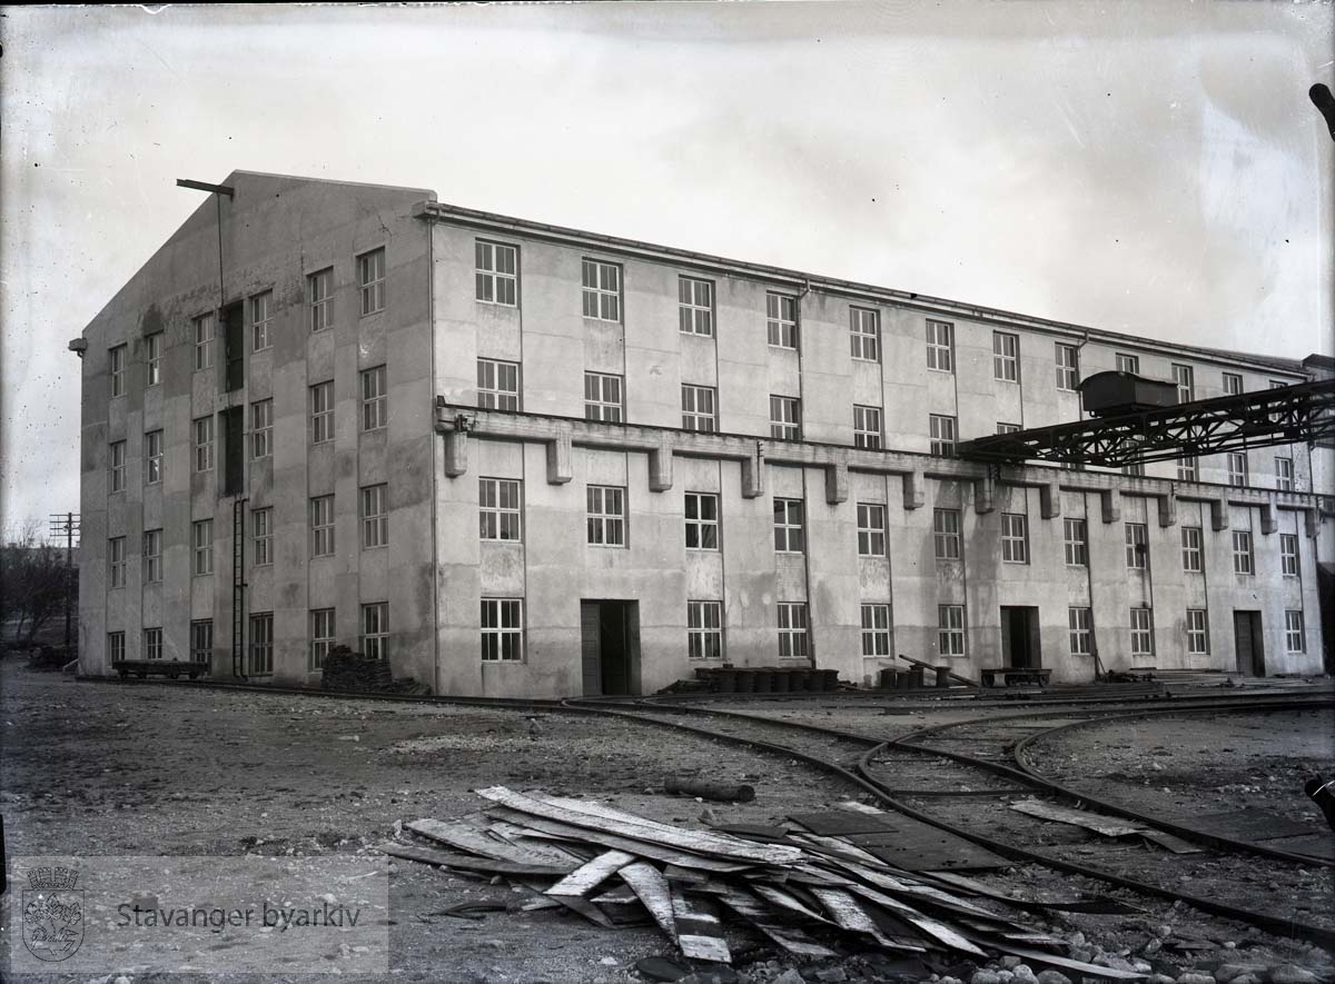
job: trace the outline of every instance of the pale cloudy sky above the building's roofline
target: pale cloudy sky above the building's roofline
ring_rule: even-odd
[[[1331,353],[1332,3],[16,8],[0,524],[79,508],[65,351],[234,168],[1161,339]]]

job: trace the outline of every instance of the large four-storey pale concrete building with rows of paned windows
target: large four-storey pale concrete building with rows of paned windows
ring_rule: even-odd
[[[724,661],[865,683],[894,653],[1320,672],[1306,444],[1143,475],[952,455],[1077,420],[1092,372],[1202,399],[1302,363],[423,189],[226,184],[84,335],[84,672],[300,684],[336,643],[497,696]]]

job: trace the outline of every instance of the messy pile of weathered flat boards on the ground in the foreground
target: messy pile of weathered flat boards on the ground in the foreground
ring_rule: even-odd
[[[1115,901],[1021,901],[957,872],[909,872],[849,837],[817,832],[809,817],[805,831],[700,831],[501,785],[478,795],[487,800],[485,812],[410,821],[402,840],[380,849],[503,876],[531,891],[523,909],[566,908],[607,928],[647,915],[692,960],[732,963],[722,921],[730,915],[801,959],[866,948],[979,963],[1000,953],[1103,979],[1141,976],[1067,959],[1061,939],[996,908],[1113,912]],[[860,803],[840,805],[848,816],[890,816]]]

